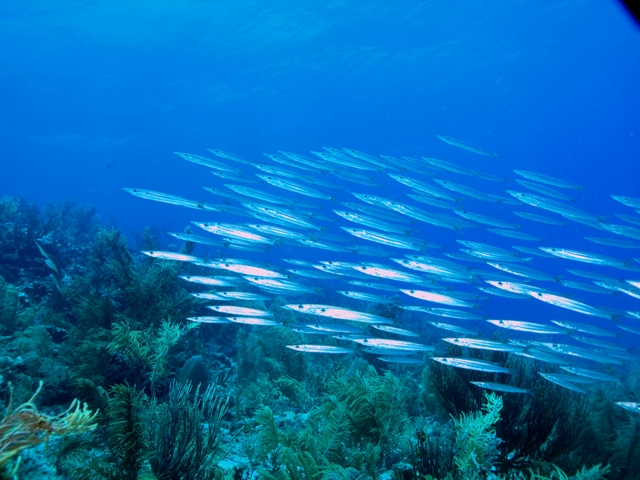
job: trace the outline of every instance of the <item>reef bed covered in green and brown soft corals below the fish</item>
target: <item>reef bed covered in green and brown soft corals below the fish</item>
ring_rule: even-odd
[[[637,367],[584,396],[510,358],[517,395],[429,353],[304,355],[284,326],[187,322],[203,301],[178,276],[197,273],[138,253],[152,229],[130,245],[93,208],[7,197],[0,223],[1,478],[640,478],[640,418],[613,403],[640,397]]]

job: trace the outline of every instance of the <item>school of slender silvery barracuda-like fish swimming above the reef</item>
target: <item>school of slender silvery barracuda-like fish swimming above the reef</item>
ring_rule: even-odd
[[[505,168],[497,154],[438,138],[491,157],[482,160],[487,169]],[[634,304],[640,258],[628,255],[640,248],[640,198],[614,192],[611,210],[619,206],[622,213],[590,213],[580,208],[581,185],[531,171],[501,176],[434,158],[346,148],[255,160],[209,152],[176,152],[212,174],[197,200],[124,189],[199,211],[184,232],[167,233],[209,251],[216,247],[214,258],[142,252],[199,269],[180,278],[199,286],[192,295],[214,303],[206,308],[216,315],[189,321],[291,328],[305,341],[287,347],[303,354],[369,354],[403,365],[435,361],[508,376],[504,365],[439,356],[447,344],[506,352],[548,364],[554,373],[539,372],[544,379],[582,394],[590,384],[619,381],[612,373],[640,359],[633,351],[640,342],[640,304]],[[563,241],[541,244],[540,224],[564,229]],[[576,239],[603,245],[607,254],[571,248],[575,234],[568,225],[579,232]],[[606,236],[591,236],[593,229]],[[525,245],[504,248],[505,239]],[[534,267],[549,262],[552,273]],[[571,268],[581,263],[592,270]],[[596,294],[603,304],[593,304]],[[283,297],[290,303],[282,304]],[[324,303],[328,298],[334,304]],[[546,303],[548,313],[513,319],[485,312],[487,305],[524,300]],[[380,314],[388,308],[395,313]],[[441,332],[441,341],[421,341],[429,329],[429,338]],[[472,383],[530,394],[507,383]],[[640,404],[619,400],[640,413]]]

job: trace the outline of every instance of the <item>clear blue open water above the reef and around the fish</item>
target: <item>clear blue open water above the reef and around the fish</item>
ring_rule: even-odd
[[[640,248],[596,244],[585,238],[640,245],[640,226],[615,217],[629,215],[640,222],[640,208],[611,198],[640,197],[640,27],[618,2],[184,0],[27,5],[5,1],[0,5],[0,59],[0,196],[24,197],[40,206],[65,198],[95,205],[103,220],[114,219],[132,245],[137,232],[148,226],[159,232],[161,250],[177,251],[183,243],[167,232],[182,232],[193,221],[258,223],[224,211],[143,200],[123,190],[146,189],[243,208],[237,200],[215,197],[202,188],[224,190],[225,183],[238,182],[214,177],[207,167],[175,155],[177,151],[241,170],[245,179],[255,182],[243,185],[291,202],[289,207],[315,212],[315,217],[306,218],[321,230],[292,229],[310,240],[325,239],[347,250],[278,241],[256,252],[228,244],[198,245],[193,255],[246,259],[278,271],[296,268],[283,261],[290,258],[312,263],[380,263],[401,269],[390,258],[432,255],[457,262],[475,277],[473,282],[441,283],[438,291],[480,294],[476,287],[486,284],[479,280],[484,278],[479,272],[503,272],[472,259],[444,256],[459,253],[464,247],[457,240],[467,240],[504,249],[572,249],[623,262],[622,269],[557,257],[535,257],[525,263],[561,280],[591,283],[567,272],[571,268],[614,281],[640,280]],[[451,145],[438,136],[477,145],[481,152]],[[264,156],[285,151],[313,157],[310,152],[323,147],[355,149],[378,159],[380,155],[436,158],[476,172],[463,175],[418,160],[412,164],[414,169],[400,168],[396,173],[433,186],[437,186],[435,178],[502,196],[501,201],[481,201],[447,191],[459,199],[460,208],[517,224],[518,232],[540,240],[499,236],[488,230],[494,227],[472,221],[470,228],[441,228],[391,210],[394,225],[419,232],[405,235],[406,239],[432,242],[438,248],[409,251],[350,236],[342,227],[358,225],[333,210],[349,210],[340,202],[363,204],[352,193],[380,196],[430,213],[455,214],[407,197],[410,189],[389,177],[390,168],[366,170],[375,185],[363,185],[331,174],[332,168],[337,174],[362,173],[340,164],[340,159],[332,168],[303,170]],[[331,198],[305,196],[261,182],[254,174],[264,172],[216,157],[207,149],[315,178],[317,184],[308,178],[300,181]],[[394,166],[393,160],[385,162]],[[567,205],[592,214],[595,220],[585,225],[575,218],[504,201],[514,200],[507,190],[538,195],[516,182],[523,178],[514,170],[579,185],[576,189],[547,186],[568,195]],[[484,179],[478,172],[504,181]],[[514,211],[544,215],[563,225],[522,219]],[[599,222],[636,230],[616,235],[599,229]],[[191,228],[194,234],[209,235]],[[383,252],[358,254],[363,245]],[[200,272],[207,273],[213,274]],[[512,278],[513,282],[522,279]],[[342,279],[290,279],[319,290],[316,295],[285,297],[287,301],[357,311],[372,308],[336,294],[356,289]],[[371,281],[398,285],[387,279],[371,277]],[[632,354],[640,352],[640,336],[618,328],[640,330],[640,320],[628,313],[640,311],[635,290],[633,295],[593,293],[557,281],[527,281],[566,299],[603,307],[603,315],[490,295],[474,302],[477,306],[471,311],[490,319],[584,322],[614,332],[617,337],[612,341]],[[401,285],[408,288],[406,283]],[[401,303],[427,305],[408,296]],[[274,311],[276,318],[279,311]],[[207,311],[198,314],[207,315]],[[396,319],[398,326],[423,330],[418,315],[404,315]],[[487,337],[497,331],[483,321],[429,319],[471,326]],[[310,320],[300,315],[299,321]],[[429,333],[430,340],[436,333]],[[510,333],[513,338],[531,338],[528,333]],[[316,341],[312,338],[308,343]],[[438,345],[443,348],[442,342]],[[627,375],[637,372],[637,360],[625,361],[621,368]],[[629,390],[626,397],[614,400],[638,402],[634,396],[638,394]]]

